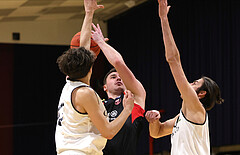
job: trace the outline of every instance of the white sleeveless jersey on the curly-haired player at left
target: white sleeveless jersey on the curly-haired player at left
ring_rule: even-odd
[[[93,125],[88,114],[77,111],[72,103],[72,92],[78,87],[89,87],[80,81],[69,81],[65,84],[58,105],[58,119],[55,133],[57,154],[82,155],[103,154],[107,139],[102,137]],[[80,88],[81,89],[81,88]],[[89,87],[89,89],[91,89]],[[106,114],[106,109],[99,99],[100,109]]]

